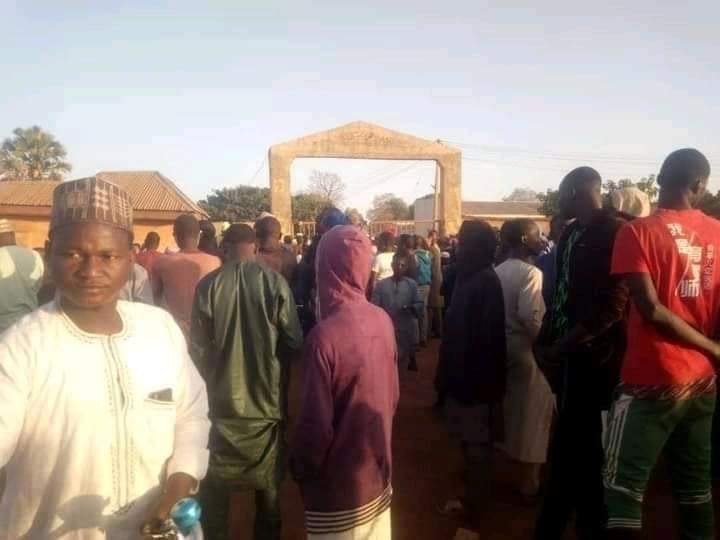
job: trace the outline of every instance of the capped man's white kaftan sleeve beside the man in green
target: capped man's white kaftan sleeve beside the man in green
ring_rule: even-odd
[[[182,472],[200,481],[205,478],[210,458],[207,390],[205,381],[190,359],[185,337],[169,315],[168,325],[180,359],[175,400],[175,446],[168,462],[167,475]]]

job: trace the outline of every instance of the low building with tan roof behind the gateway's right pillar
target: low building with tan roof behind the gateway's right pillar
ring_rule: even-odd
[[[433,220],[433,195],[426,195],[415,200],[415,231],[426,234]],[[510,219],[532,219],[540,230],[547,233],[550,228],[549,219],[540,211],[540,202],[513,201],[463,201],[462,218],[482,219],[498,229]]]

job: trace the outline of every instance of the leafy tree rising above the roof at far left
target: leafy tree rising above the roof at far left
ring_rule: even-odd
[[[60,182],[72,169],[66,157],[63,145],[40,127],[16,128],[0,147],[0,170],[4,180]]]

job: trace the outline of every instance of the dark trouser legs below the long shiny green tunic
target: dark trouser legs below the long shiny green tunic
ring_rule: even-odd
[[[255,490],[255,540],[280,540],[280,486]],[[229,535],[230,499],[248,487],[214,479],[202,483],[199,494],[202,506],[203,533],[207,540],[226,540]]]

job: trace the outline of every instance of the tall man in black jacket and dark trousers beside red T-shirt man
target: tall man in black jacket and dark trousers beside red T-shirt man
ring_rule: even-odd
[[[573,512],[580,540],[605,537],[602,416],[619,380],[629,292],[610,272],[625,221],[602,208],[601,185],[590,167],[572,170],[560,184],[560,211],[575,221],[558,245],[552,311],[536,347],[558,402],[538,540],[562,538]]]

